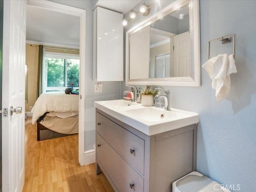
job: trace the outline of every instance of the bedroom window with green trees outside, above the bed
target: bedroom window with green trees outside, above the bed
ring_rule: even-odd
[[[70,54],[46,54],[44,67],[45,92],[79,88],[79,57]]]

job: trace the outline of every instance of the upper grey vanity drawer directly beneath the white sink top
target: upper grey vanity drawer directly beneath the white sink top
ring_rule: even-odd
[[[122,128],[100,113],[97,113],[96,130],[110,146],[144,174],[144,140],[142,138]]]

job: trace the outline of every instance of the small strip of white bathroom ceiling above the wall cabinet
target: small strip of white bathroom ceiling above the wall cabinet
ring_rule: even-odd
[[[126,14],[141,0],[98,0],[96,6]]]

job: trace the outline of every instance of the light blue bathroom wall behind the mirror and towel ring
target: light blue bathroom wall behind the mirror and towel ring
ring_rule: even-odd
[[[160,0],[150,15],[174,1]],[[146,1],[152,4],[153,1]],[[142,4],[142,2],[140,3]],[[138,10],[138,4],[134,10]],[[147,17],[149,17],[147,16]],[[128,14],[126,14],[128,18]],[[125,27],[132,28],[145,17],[138,16]],[[231,75],[231,91],[218,103],[207,72],[201,68],[202,86],[168,87],[171,106],[200,114],[197,169],[240,191],[256,191],[256,1],[201,0],[201,65],[207,60],[208,40],[237,34],[237,74]],[[212,55],[232,53],[232,45],[213,44]],[[218,50],[218,51],[214,51]],[[127,90],[125,82],[122,91]],[[232,190],[235,192],[236,190]]]

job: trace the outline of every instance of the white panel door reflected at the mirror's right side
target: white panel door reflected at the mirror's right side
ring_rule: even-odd
[[[174,36],[174,77],[190,76],[189,32]]]

